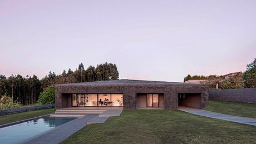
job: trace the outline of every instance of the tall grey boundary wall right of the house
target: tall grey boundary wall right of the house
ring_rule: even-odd
[[[209,90],[209,100],[256,103],[256,88]]]

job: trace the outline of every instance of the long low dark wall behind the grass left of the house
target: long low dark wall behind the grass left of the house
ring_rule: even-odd
[[[8,110],[0,110],[0,116],[12,114],[12,113],[18,113],[18,112],[25,112],[25,111],[43,110],[43,109],[46,109],[46,108],[55,108],[55,104],[13,108],[13,109],[8,109]]]

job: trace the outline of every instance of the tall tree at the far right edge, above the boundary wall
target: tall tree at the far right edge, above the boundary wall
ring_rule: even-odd
[[[256,87],[256,58],[254,58],[253,62],[247,65],[243,78],[245,87]]]

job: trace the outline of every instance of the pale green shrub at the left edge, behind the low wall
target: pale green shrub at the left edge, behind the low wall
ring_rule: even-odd
[[[10,108],[19,108],[22,105],[17,101],[12,101],[11,97],[2,96],[0,99],[0,110],[6,110]]]

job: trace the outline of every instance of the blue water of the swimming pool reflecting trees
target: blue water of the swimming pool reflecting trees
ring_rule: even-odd
[[[20,143],[73,119],[67,117],[42,117],[3,127],[0,128],[0,143]]]

